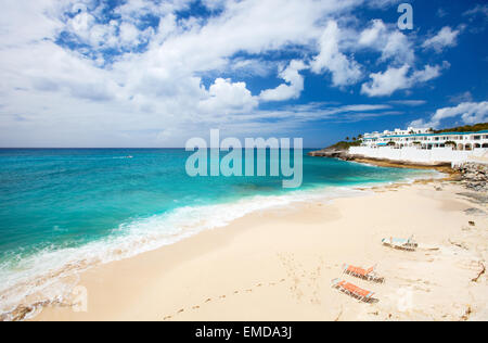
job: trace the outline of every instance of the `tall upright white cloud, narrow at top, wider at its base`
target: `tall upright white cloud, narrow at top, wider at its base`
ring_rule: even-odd
[[[316,74],[332,73],[332,84],[336,87],[354,85],[362,77],[359,64],[339,51],[339,40],[337,23],[329,22],[320,39],[320,53],[310,64]]]

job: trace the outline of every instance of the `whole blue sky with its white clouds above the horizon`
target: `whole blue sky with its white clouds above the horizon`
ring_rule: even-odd
[[[486,1],[4,2],[0,147],[183,147],[219,128],[321,148],[488,122]]]

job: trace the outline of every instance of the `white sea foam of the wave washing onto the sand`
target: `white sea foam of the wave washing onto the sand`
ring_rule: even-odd
[[[425,175],[432,178],[435,174]],[[164,215],[123,224],[111,237],[79,247],[44,249],[33,256],[17,258],[15,264],[5,262],[0,265],[0,315],[3,314],[5,320],[12,319],[9,314],[20,304],[30,307],[34,315],[47,303],[63,303],[78,282],[79,272],[87,268],[153,251],[204,230],[224,227],[253,212],[362,194],[364,191],[354,187],[328,187],[285,195],[257,195],[224,204],[180,207]]]

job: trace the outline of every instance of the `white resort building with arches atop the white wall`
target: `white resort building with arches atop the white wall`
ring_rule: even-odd
[[[446,148],[472,151],[475,149],[488,149],[488,130],[434,134],[431,129],[409,127],[407,130],[396,129],[395,131],[384,131],[383,134],[364,134],[361,147],[390,147],[394,149],[410,147],[427,150]]]

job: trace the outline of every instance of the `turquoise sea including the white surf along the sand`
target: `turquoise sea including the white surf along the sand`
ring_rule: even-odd
[[[192,178],[185,173],[192,153],[182,149],[0,150],[0,314],[26,296],[39,303],[62,296],[73,284],[61,280],[70,272],[254,211],[433,175],[306,153],[303,186],[283,189],[282,177]]]

